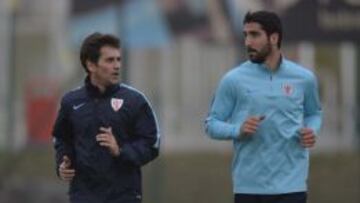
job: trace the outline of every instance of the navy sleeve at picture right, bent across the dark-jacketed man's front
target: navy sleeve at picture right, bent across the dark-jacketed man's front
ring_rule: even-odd
[[[120,144],[120,159],[143,166],[159,155],[160,133],[156,116],[145,100],[141,102],[129,142]]]

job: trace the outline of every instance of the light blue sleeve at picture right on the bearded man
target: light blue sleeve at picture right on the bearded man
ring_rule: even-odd
[[[322,123],[322,109],[316,77],[312,75],[306,82],[304,124],[305,127],[311,128],[318,135]]]

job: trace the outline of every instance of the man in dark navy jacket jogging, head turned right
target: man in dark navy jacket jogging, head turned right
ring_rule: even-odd
[[[85,84],[62,98],[54,125],[56,168],[72,203],[140,203],[141,166],[159,153],[159,129],[145,96],[119,83],[119,39],[83,42]]]

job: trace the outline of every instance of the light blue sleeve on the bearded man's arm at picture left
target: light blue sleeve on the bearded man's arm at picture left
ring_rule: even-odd
[[[219,84],[205,120],[205,131],[211,138],[229,140],[239,137],[241,123],[229,122],[235,104],[234,85],[230,78],[225,76]]]

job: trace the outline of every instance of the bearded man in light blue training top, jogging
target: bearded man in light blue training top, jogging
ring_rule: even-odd
[[[244,35],[250,60],[221,79],[206,133],[233,141],[235,203],[305,203],[322,120],[316,77],[282,56],[275,13],[247,13]]]

